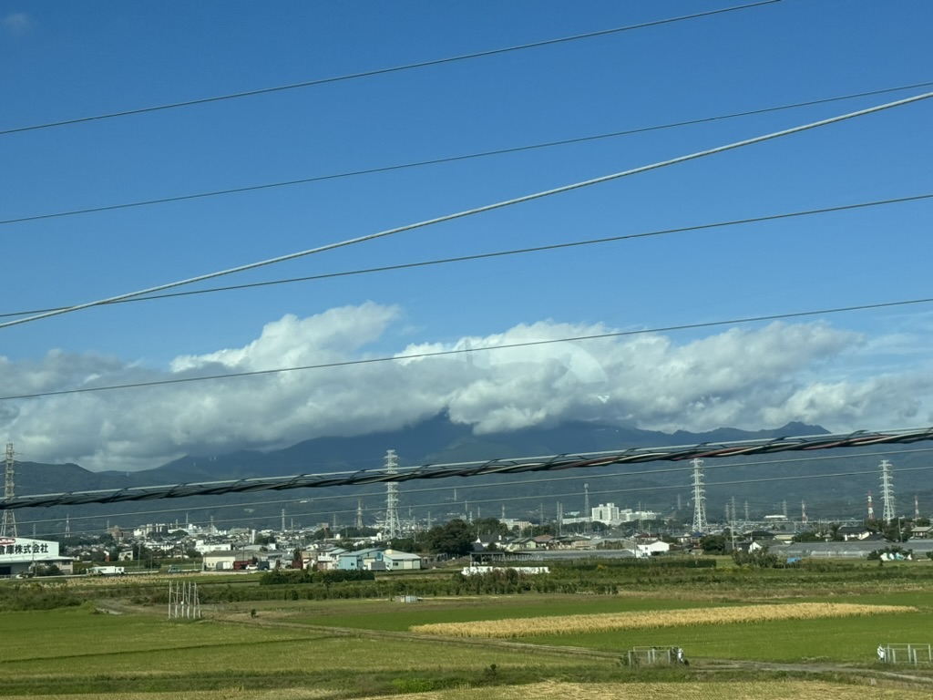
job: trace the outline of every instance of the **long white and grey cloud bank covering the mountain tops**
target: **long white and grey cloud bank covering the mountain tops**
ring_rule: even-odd
[[[306,318],[285,315],[243,347],[179,356],[164,369],[61,351],[22,362],[0,357],[7,396],[326,366],[0,401],[0,431],[21,461],[133,470],[185,454],[392,430],[441,412],[477,433],[565,420],[669,432],[790,421],[844,431],[933,420],[928,371],[915,362],[899,371],[874,362],[884,338],[824,322],[774,322],[684,340],[545,320],[486,337],[384,349],[406,332],[401,309],[369,302]],[[591,336],[603,337],[549,343]]]

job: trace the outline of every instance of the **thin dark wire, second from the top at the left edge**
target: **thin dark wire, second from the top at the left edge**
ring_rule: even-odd
[[[355,177],[358,175],[376,175],[379,173],[390,173],[397,170],[407,170],[411,168],[424,167],[426,165],[439,165],[442,163],[457,162],[457,161],[469,161],[480,158],[487,158],[490,156],[501,156],[508,155],[512,153],[522,153],[525,151],[538,150],[542,148],[550,148],[557,146],[570,146],[573,144],[582,144],[588,143],[591,141],[599,141],[602,139],[608,138],[617,138],[620,136],[629,136],[635,133],[649,133],[661,131],[664,129],[676,129],[684,126],[693,126],[696,124],[704,124],[713,121],[722,121],[725,119],[736,119],[739,117],[751,117],[759,114],[767,114],[769,112],[777,112],[786,109],[795,109],[805,106],[813,105],[825,105],[832,102],[841,102],[842,100],[852,100],[859,97],[869,97],[872,95],[881,95],[890,92],[898,92],[905,90],[915,90],[917,88],[927,88],[933,85],[933,81],[922,82],[922,83],[913,83],[912,85],[902,85],[897,88],[884,88],[881,90],[872,90],[864,92],[853,92],[847,95],[837,95],[835,97],[825,97],[818,100],[808,100],[805,102],[797,102],[789,105],[776,105],[771,107],[761,107],[759,109],[746,110],[744,112],[732,112],[731,114],[717,115],[713,117],[703,117],[701,119],[688,119],[686,121],[674,121],[668,122],[665,124],[656,124],[654,126],[639,127],[636,129],[627,129],[620,132],[610,132],[610,133],[598,133],[591,134],[588,136],[578,136],[574,138],[566,138],[558,141],[547,141],[538,144],[529,144],[526,146],[517,146],[517,147],[508,147],[508,148],[497,148],[494,150],[480,151],[477,153],[466,153],[456,156],[446,156],[442,158],[429,159],[425,161],[411,161],[406,163],[396,163],[393,165],[383,165],[374,168],[365,168],[362,170],[351,170],[343,173],[333,173],[330,175],[315,175],[312,177],[302,177],[296,180],[284,180],[280,182],[267,182],[261,183],[258,185],[247,185],[239,188],[228,188],[228,189],[214,189],[204,192],[195,192],[191,194],[181,194],[173,197],[160,197],[156,199],[140,200],[136,202],[126,202],[118,204],[104,204],[102,206],[92,206],[86,207],[83,209],[71,209],[62,212],[51,212],[49,214],[35,214],[28,217],[16,217],[16,218],[7,218],[0,219],[0,226],[7,224],[17,224],[23,223],[26,221],[38,221],[48,218],[60,218],[60,217],[74,217],[82,214],[99,214],[102,212],[109,211],[118,211],[120,209],[132,209],[143,206],[151,206],[154,204],[166,204],[174,202],[188,202],[190,200],[200,200],[207,199],[210,197],[219,197],[229,194],[244,194],[246,192],[255,192],[263,189],[277,189],[285,187],[293,187],[297,185],[309,185],[315,182],[324,182],[327,180],[336,180],[345,177]]]

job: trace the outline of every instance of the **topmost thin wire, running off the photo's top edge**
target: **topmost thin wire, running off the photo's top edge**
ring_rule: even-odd
[[[748,5],[741,5],[736,7],[724,7],[721,9],[708,10],[706,12],[698,12],[692,15],[682,15],[680,17],[672,17],[664,20],[654,20],[642,22],[640,24],[630,24],[623,27],[615,27],[613,29],[603,29],[597,32],[590,32],[587,34],[572,35],[572,36],[563,36],[556,39],[545,39],[544,41],[536,41],[528,44],[521,44],[518,46],[505,47],[502,49],[489,49],[485,51],[475,51],[473,53],[461,54],[459,56],[450,56],[448,58],[434,59],[431,61],[423,61],[420,63],[407,63],[404,65],[392,66],[389,68],[377,68],[369,71],[362,71],[360,73],[351,73],[344,76],[335,76],[335,77],[322,77],[314,80],[305,80],[299,83],[290,83],[288,85],[278,85],[271,88],[260,88],[258,90],[242,91],[242,92],[233,92],[226,95],[215,95],[213,97],[202,97],[196,100],[187,100],[184,102],[175,102],[167,105],[155,105],[148,107],[139,107],[137,109],[127,109],[119,112],[109,112],[105,114],[100,114],[92,117],[80,117],[77,119],[63,119],[61,121],[50,121],[44,124],[34,124],[32,126],[21,126],[15,127],[12,129],[7,129],[0,131],[0,136],[4,136],[10,133],[22,133],[22,132],[32,132],[40,129],[51,129],[53,127],[60,126],[70,126],[73,124],[81,124],[89,121],[101,121],[103,119],[116,119],[118,117],[130,117],[132,115],[146,114],[149,112],[160,112],[167,109],[177,109],[179,107],[188,107],[192,105],[207,105],[210,103],[223,102],[227,100],[236,100],[243,97],[255,97],[257,95],[272,94],[273,92],[284,92],[291,90],[299,90],[301,88],[311,88],[318,85],[327,85],[329,83],[343,82],[346,80],[355,80],[362,77],[374,77],[374,76],[384,76],[391,73],[400,73],[402,71],[413,70],[416,68],[426,68],[432,65],[443,65],[445,63],[456,63],[460,61],[468,61],[471,59],[485,58],[487,56],[496,56],[504,53],[511,53],[514,51],[521,51],[525,49],[539,49],[541,47],[554,46],[557,44],[566,44],[572,41],[579,41],[582,39],[591,39],[597,36],[607,36],[620,34],[621,32],[631,32],[636,29],[646,29],[648,27],[661,26],[662,24],[671,24],[677,21],[686,21],[686,20],[695,20],[703,17],[711,17],[713,15],[724,14],[726,12],[733,12],[735,10],[749,9],[753,7],[763,7],[765,5],[773,5],[778,3],[781,0],[762,0],[761,2],[751,3]]]

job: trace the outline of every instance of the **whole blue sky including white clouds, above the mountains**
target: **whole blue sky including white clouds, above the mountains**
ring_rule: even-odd
[[[0,3],[0,131],[657,21],[728,2]],[[0,134],[0,219],[521,147],[933,80],[921,0],[716,16]],[[0,313],[94,301],[930,91],[196,201],[0,224]],[[933,100],[192,288],[933,192]],[[933,203],[145,301],[0,329],[5,396],[933,297]],[[933,421],[933,308],[0,400],[21,459],[145,469],[400,427]],[[0,318],[10,320],[13,316]]]

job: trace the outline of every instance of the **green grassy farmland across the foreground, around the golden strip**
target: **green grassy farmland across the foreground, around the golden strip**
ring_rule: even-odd
[[[795,574],[796,575],[796,574]],[[768,576],[773,576],[769,572]],[[744,575],[745,577],[745,575]],[[801,579],[802,580],[802,579]],[[933,582],[854,586],[860,595],[800,595],[734,586],[624,595],[511,595],[390,600],[266,600],[169,621],[166,607],[96,605],[0,613],[0,682],[12,698],[848,698],[929,697],[933,669],[879,665],[880,643],[933,643]],[[107,595],[116,595],[113,587]],[[792,593],[788,593],[792,592]],[[896,606],[897,614],[703,621],[710,609],[742,615],[805,603]],[[701,618],[690,624],[677,617]],[[420,637],[415,625],[566,616],[674,615],[669,626],[560,628],[503,640]],[[547,627],[543,628],[547,631]],[[689,668],[624,665],[634,646],[679,646]],[[779,666],[779,665],[787,665]],[[909,671],[909,673],[904,673]],[[900,672],[900,678],[885,675]],[[912,678],[908,678],[908,676]]]

